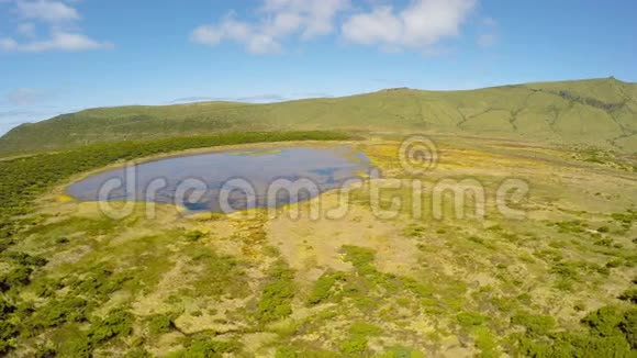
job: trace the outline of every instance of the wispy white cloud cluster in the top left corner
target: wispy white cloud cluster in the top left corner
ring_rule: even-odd
[[[29,40],[13,37],[0,38],[0,51],[4,52],[46,52],[46,51],[88,51],[112,48],[109,42],[97,41],[81,33],[76,22],[80,13],[72,7],[53,0],[14,0],[14,12],[30,22],[20,23],[15,33]],[[35,38],[38,26],[44,26],[48,36]]]

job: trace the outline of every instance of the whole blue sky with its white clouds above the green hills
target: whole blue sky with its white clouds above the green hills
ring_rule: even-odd
[[[636,1],[0,0],[0,134],[85,108],[637,81]]]

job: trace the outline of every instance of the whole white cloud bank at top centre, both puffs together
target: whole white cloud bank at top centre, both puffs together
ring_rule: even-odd
[[[217,23],[194,29],[190,38],[208,46],[235,42],[253,54],[271,54],[280,52],[286,40],[308,41],[339,27],[343,38],[351,44],[433,53],[442,40],[460,34],[477,1],[411,0],[402,9],[372,2],[369,11],[355,12],[349,0],[262,0],[256,21],[237,20],[231,13]]]

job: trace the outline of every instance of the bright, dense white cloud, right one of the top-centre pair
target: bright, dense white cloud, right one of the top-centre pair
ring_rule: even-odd
[[[384,49],[426,51],[445,37],[457,36],[476,8],[477,0],[414,0],[402,11],[375,7],[355,14],[342,27],[350,43],[379,45]]]

